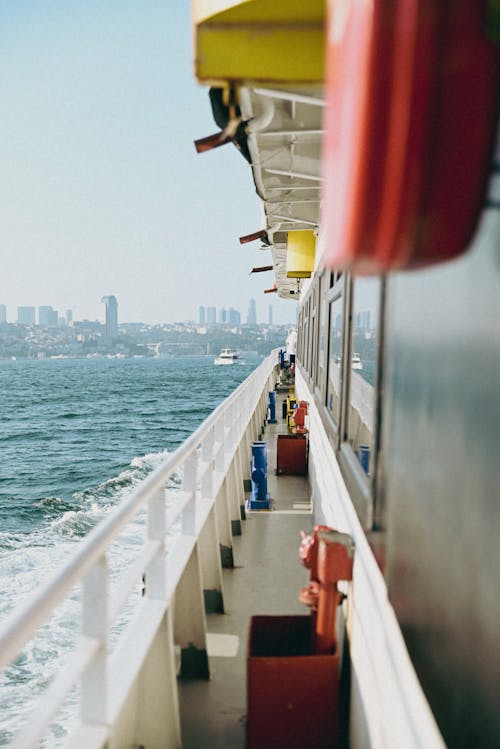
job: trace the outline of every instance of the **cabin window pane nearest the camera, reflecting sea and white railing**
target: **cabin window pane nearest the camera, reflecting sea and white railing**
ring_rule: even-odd
[[[347,439],[367,475],[373,470],[380,293],[379,278],[353,282]]]

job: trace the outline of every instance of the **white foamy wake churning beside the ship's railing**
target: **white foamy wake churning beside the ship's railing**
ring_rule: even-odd
[[[117,476],[95,487],[76,492],[71,502],[58,497],[47,497],[35,505],[48,514],[40,526],[29,534],[0,533],[0,617],[6,616],[30,594],[45,584],[62,567],[75,550],[78,541],[113,511],[154,468],[165,460],[168,452],[148,453],[134,458]],[[180,480],[173,476],[167,486],[166,501],[175,501]],[[69,509],[69,506],[74,509]],[[114,582],[129,567],[140,549],[146,530],[145,511],[130,523],[119,541],[109,551],[110,592]],[[172,529],[175,533],[175,529]],[[110,642],[113,649],[117,631],[130,618],[134,605],[141,597],[142,584],[136,589],[115,627]],[[63,668],[70,650],[76,645],[80,630],[80,590],[58,607],[56,613],[8,668],[0,679],[0,746],[8,743],[26,723],[26,712],[19,706],[30,705],[42,693],[54,674]],[[77,694],[67,700],[43,746],[56,747],[75,721]],[[64,728],[63,728],[64,726]]]

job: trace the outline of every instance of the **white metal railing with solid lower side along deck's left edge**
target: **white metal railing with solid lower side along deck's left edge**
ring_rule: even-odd
[[[223,595],[220,548],[232,547],[232,534],[240,527],[243,479],[248,473],[245,464],[250,461],[251,442],[265,421],[276,362],[273,352],[5,623],[0,631],[2,669],[22,652],[75,586],[82,585],[80,642],[10,746],[37,746],[78,684],[79,726],[68,737],[67,746],[179,745],[174,645],[181,651],[194,647],[206,658],[203,591],[215,589]],[[177,472],[183,475],[182,488],[168,508],[165,487]],[[144,543],[111,595],[109,548],[144,508]],[[180,534],[168,541],[167,554],[167,533],[177,520]],[[145,595],[110,656],[111,628],[141,579],[146,580]],[[163,720],[158,714],[154,720],[143,720],[141,710],[151,710],[150,704],[162,689],[168,693],[170,712],[163,703]]]

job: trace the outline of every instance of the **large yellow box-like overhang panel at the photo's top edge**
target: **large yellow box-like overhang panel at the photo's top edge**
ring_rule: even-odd
[[[200,82],[322,83],[325,0],[193,0]]]

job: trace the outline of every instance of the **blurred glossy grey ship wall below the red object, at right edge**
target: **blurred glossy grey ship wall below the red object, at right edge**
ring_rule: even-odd
[[[500,737],[500,211],[462,259],[387,283],[387,582],[449,746]]]

